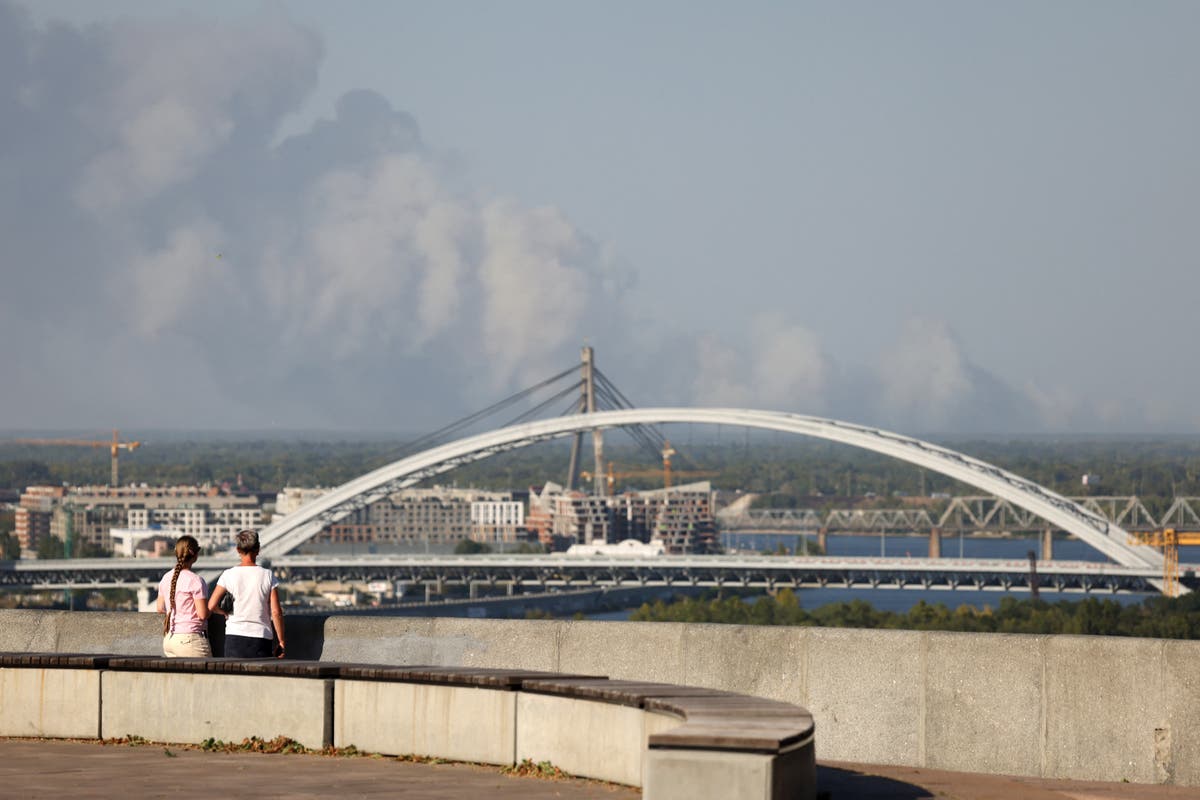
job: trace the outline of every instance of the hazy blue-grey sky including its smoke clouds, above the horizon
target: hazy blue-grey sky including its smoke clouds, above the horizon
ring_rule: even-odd
[[[0,428],[1200,432],[1200,4],[0,0]]]

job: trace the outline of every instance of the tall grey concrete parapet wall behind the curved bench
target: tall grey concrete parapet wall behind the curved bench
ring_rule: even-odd
[[[794,703],[815,717],[824,759],[1200,786],[1200,642],[560,620],[288,625],[289,652],[305,658],[605,674]],[[160,630],[151,614],[0,610],[0,650],[157,655]]]

